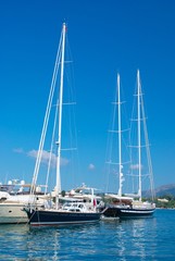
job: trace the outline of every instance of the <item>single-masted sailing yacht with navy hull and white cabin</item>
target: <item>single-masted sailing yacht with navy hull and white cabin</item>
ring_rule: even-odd
[[[55,178],[55,203],[48,204],[42,208],[35,208],[33,204],[29,204],[24,210],[28,215],[28,223],[30,226],[55,226],[55,225],[68,225],[68,224],[80,224],[80,223],[91,223],[98,222],[100,220],[101,212],[98,210],[96,204],[96,197],[93,189],[90,194],[90,203],[77,200],[76,202],[70,202],[61,206],[60,195],[61,195],[61,152],[62,152],[62,109],[63,109],[63,87],[64,87],[64,65],[65,65],[65,40],[66,40],[66,25],[63,24],[61,39],[59,45],[59,50],[57,54],[52,83],[50,88],[50,95],[48,100],[48,107],[46,110],[46,116],[43,121],[42,134],[40,139],[40,145],[38,149],[38,158],[36,160],[36,166],[33,176],[33,186],[38,178],[38,172],[40,167],[40,160],[45,144],[45,137],[48,127],[48,121],[50,115],[50,110],[53,102],[53,94],[55,94],[55,86],[58,80],[58,75],[60,75],[60,91],[59,97],[57,98],[57,105],[54,105],[55,120],[58,120],[58,141],[57,144],[57,178]],[[53,128],[55,129],[55,123]]]

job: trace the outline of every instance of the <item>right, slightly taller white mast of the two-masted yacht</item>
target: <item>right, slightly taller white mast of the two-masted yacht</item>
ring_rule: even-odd
[[[140,134],[140,96],[141,96],[141,85],[140,85],[140,74],[137,71],[137,132],[138,132],[138,195],[139,200],[141,200],[141,134]]]

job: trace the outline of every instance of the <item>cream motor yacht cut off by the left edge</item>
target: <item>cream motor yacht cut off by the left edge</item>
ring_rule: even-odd
[[[41,192],[38,186],[35,190],[35,204],[43,206],[48,202],[48,196]],[[27,214],[23,211],[29,203],[30,184],[24,181],[13,179],[8,184],[0,185],[0,224],[22,224],[27,223]]]

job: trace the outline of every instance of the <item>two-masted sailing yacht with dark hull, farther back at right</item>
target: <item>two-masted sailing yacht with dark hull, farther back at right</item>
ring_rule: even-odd
[[[153,178],[152,178],[152,166],[150,160],[150,151],[148,144],[148,134],[147,134],[147,125],[146,125],[146,116],[143,109],[143,100],[141,92],[141,84],[140,84],[140,75],[139,71],[137,71],[137,116],[133,119],[137,124],[137,144],[135,146],[130,146],[130,148],[137,149],[137,160],[136,163],[132,164],[133,170],[137,171],[137,173],[133,173],[133,177],[137,178],[137,192],[134,194],[124,194],[123,191],[123,183],[125,182],[126,175],[123,173],[123,153],[122,153],[122,119],[121,119],[121,91],[120,91],[120,75],[117,75],[117,107],[118,107],[118,130],[116,132],[118,135],[118,192],[115,194],[107,194],[105,198],[112,200],[113,203],[109,206],[109,208],[104,211],[104,216],[120,216],[122,219],[126,217],[146,217],[153,214],[155,210],[155,204],[153,202],[148,202],[142,200],[142,179],[143,179],[143,158],[141,158],[141,149],[145,147],[146,156],[148,157],[148,172],[147,176],[150,181],[150,190],[153,194]],[[141,127],[141,124],[143,127]],[[145,142],[141,139],[141,130],[145,130]],[[132,129],[129,129],[132,132]],[[145,156],[145,158],[146,158]],[[132,157],[130,157],[132,158]],[[130,159],[133,161],[133,159]],[[132,183],[129,183],[132,186]],[[153,197],[152,197],[153,201]]]

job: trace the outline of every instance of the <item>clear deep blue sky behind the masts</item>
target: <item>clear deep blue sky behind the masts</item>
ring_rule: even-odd
[[[32,181],[62,23],[76,89],[79,174],[104,189],[116,74],[133,102],[140,70],[155,187],[175,183],[175,2],[173,0],[0,1],[0,181]],[[74,184],[73,184],[73,183]]]

